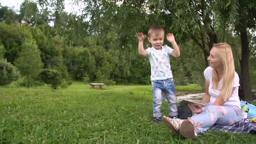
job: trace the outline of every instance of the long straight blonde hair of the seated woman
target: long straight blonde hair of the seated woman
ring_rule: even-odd
[[[220,96],[224,101],[230,97],[233,91],[233,80],[235,77],[235,64],[231,46],[227,43],[216,43],[213,47],[217,49],[216,56],[220,58],[223,64],[223,83]],[[217,89],[219,82],[216,69],[212,70],[213,89]]]

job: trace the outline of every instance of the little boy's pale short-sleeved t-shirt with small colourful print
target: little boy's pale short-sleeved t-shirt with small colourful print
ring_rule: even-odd
[[[161,50],[154,47],[146,49],[151,65],[151,80],[164,80],[173,78],[171,72],[170,58],[172,48],[165,45]]]

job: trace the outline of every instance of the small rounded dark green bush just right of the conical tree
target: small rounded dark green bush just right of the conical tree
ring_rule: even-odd
[[[52,86],[53,89],[59,88],[62,84],[61,72],[55,69],[43,69],[39,74],[39,79]]]

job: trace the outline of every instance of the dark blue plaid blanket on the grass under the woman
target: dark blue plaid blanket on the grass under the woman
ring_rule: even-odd
[[[256,134],[256,122],[238,121],[231,126],[213,125],[210,130]]]

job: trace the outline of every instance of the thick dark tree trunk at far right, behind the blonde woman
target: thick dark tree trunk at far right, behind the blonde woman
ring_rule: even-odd
[[[242,57],[240,60],[241,66],[241,92],[243,95],[239,95],[240,98],[244,98],[245,101],[253,101],[253,93],[250,84],[249,77],[249,43],[247,38],[246,27],[240,30],[240,38],[242,45]]]

